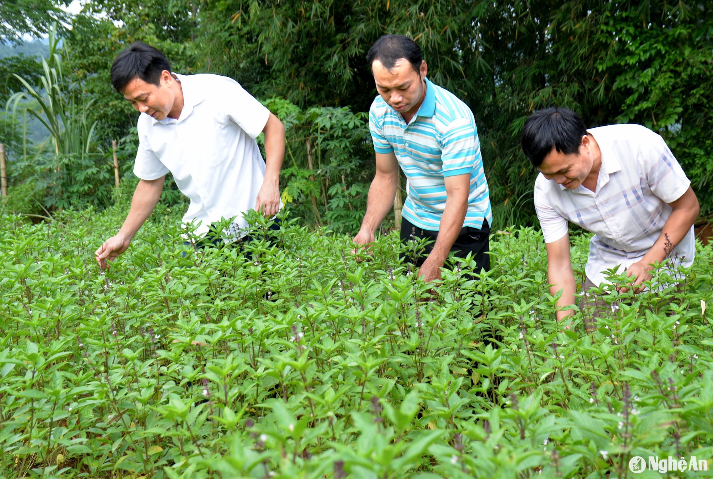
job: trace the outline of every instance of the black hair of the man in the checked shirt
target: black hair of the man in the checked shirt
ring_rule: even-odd
[[[539,168],[552,150],[579,154],[582,137],[587,135],[584,120],[569,108],[543,108],[525,121],[520,144],[523,153]]]

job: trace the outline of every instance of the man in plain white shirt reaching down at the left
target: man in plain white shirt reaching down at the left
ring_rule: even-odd
[[[166,173],[190,206],[183,222],[196,233],[245,235],[242,213],[251,208],[277,214],[279,170],[284,157],[284,126],[265,106],[225,76],[171,73],[170,63],[153,46],[133,43],[111,66],[116,91],[141,114],[134,174],[141,180],[119,232],[96,250],[99,265],[116,259],[149,217],[163,190]],[[265,155],[255,137],[265,133]],[[212,224],[236,217],[223,235]]]

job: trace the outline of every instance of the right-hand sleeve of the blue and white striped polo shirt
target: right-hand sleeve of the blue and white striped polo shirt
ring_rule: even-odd
[[[481,163],[481,145],[478,132],[468,118],[451,121],[441,137],[443,177],[470,175]]]

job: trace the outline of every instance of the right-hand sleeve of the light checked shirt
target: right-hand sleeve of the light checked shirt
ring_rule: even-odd
[[[683,196],[691,185],[668,145],[660,135],[651,132],[642,146],[640,161],[646,172],[646,182],[651,191],[663,201],[670,203]]]

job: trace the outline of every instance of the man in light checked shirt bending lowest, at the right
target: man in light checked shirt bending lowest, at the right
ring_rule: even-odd
[[[588,130],[577,113],[552,107],[525,121],[522,147],[540,171],[535,210],[545,237],[550,292],[562,290],[558,320],[571,314],[562,308],[575,303],[568,222],[595,234],[583,291],[607,283],[605,270],[618,268],[640,292],[651,279],[651,264],[663,262],[667,253],[684,266],[692,264],[698,200],[659,135],[641,125]]]

